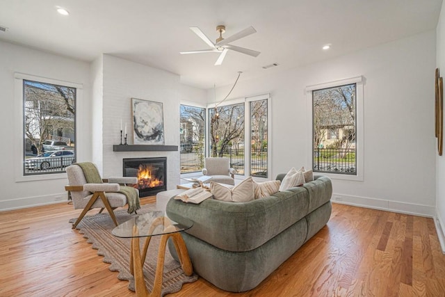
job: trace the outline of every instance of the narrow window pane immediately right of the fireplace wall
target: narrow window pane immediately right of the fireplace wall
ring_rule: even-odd
[[[180,148],[181,173],[196,172],[204,167],[206,109],[181,104]]]

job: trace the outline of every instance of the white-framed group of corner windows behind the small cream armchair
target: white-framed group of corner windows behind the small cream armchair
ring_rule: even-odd
[[[225,156],[237,175],[267,178],[269,99],[268,94],[259,95],[210,104],[207,109],[181,104],[181,174],[202,170],[204,156]]]

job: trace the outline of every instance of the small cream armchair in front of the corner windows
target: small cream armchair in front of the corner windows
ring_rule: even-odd
[[[203,175],[211,176],[211,182],[220,182],[221,184],[235,184],[234,175],[236,169],[230,168],[229,158],[226,157],[208,157],[204,159]]]

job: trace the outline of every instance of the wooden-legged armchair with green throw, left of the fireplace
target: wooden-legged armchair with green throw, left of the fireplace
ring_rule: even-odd
[[[136,184],[137,177],[110,177],[102,179],[93,163],[75,163],[66,168],[68,186],[74,209],[83,209],[79,218],[72,225],[74,229],[83,216],[93,208],[100,208],[99,214],[106,208],[115,225],[118,225],[114,209],[129,204],[129,213],[140,208],[139,192],[126,184]],[[105,183],[104,183],[105,182]],[[121,186],[122,184],[122,186]],[[100,198],[100,199],[98,199]]]

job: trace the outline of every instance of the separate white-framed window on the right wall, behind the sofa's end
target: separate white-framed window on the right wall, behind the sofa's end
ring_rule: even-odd
[[[312,114],[309,155],[314,172],[363,180],[362,77],[310,86],[306,90]]]

